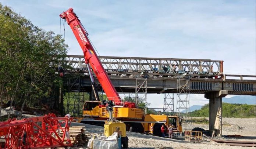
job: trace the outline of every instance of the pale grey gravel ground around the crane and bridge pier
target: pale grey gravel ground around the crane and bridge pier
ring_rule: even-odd
[[[223,118],[223,122],[226,121],[223,126],[223,135],[225,134],[241,134],[245,137],[243,138],[223,138],[223,139],[233,139],[240,141],[256,141],[256,118],[251,119],[237,119],[237,118]],[[103,133],[103,127],[92,126],[88,124],[73,123],[72,126],[86,126],[86,133],[89,137],[92,135],[99,135],[100,132]],[[239,130],[240,128],[242,130]],[[201,127],[208,129],[208,124],[194,124],[193,127]],[[240,147],[240,146],[227,146],[225,144],[216,143],[209,141],[209,139],[203,139],[201,143],[192,143],[177,139],[161,138],[156,136],[150,136],[145,134],[139,134],[134,132],[127,132],[129,138],[129,149],[246,149],[252,147]],[[84,148],[74,148],[74,149],[86,149]]]

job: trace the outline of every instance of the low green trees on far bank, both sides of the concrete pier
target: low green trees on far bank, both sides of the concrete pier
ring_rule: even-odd
[[[209,104],[191,112],[193,117],[209,117]],[[222,103],[222,117],[247,118],[256,116],[256,105]]]

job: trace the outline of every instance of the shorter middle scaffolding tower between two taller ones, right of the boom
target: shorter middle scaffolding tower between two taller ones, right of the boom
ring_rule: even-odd
[[[163,112],[171,112],[170,115],[174,115],[174,93],[164,93],[164,108]]]

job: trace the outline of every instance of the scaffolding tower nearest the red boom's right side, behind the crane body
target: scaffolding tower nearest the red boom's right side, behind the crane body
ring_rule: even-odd
[[[147,78],[136,77],[135,104],[147,114]]]

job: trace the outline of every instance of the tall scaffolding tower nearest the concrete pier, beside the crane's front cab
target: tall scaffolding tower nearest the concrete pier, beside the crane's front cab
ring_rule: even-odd
[[[179,117],[182,117],[182,130],[192,130],[192,119],[189,111],[189,78],[179,76],[177,78],[177,109]]]

